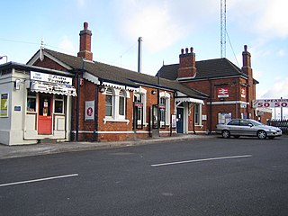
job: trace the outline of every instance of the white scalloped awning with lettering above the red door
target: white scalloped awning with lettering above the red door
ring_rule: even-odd
[[[35,80],[31,80],[31,92],[76,96],[76,88],[72,85],[44,83]]]

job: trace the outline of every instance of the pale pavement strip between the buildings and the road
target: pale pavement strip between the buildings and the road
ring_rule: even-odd
[[[122,148],[165,141],[180,141],[186,139],[210,139],[214,137],[215,135],[178,135],[173,137],[135,139],[130,141],[115,142],[58,142],[19,146],[7,146],[0,144],[0,159],[40,156],[63,152],[95,150],[104,148]]]

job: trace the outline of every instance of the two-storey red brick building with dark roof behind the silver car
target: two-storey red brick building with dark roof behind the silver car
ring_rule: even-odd
[[[241,68],[227,58],[196,61],[193,49],[190,52],[185,49],[185,53],[182,49],[179,58],[179,64],[161,67],[157,76],[176,80],[209,95],[196,122],[196,131],[214,131],[217,123],[231,118],[257,119],[252,101],[256,99],[258,82],[253,78],[251,54],[246,45]]]

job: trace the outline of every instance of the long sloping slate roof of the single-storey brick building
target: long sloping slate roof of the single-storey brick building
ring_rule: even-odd
[[[82,58],[67,55],[51,49],[44,49],[44,53],[45,52],[52,57],[57,58],[67,66],[72,67],[74,70],[81,70],[83,67]],[[103,82],[111,82],[114,84],[134,87],[139,87],[139,85],[159,87],[172,91],[180,91],[189,97],[202,100],[208,97],[207,94],[203,94],[202,92],[199,92],[193,88],[182,85],[175,80],[158,78],[157,76],[149,76],[143,73],[138,73],[121,67],[114,67],[97,61],[85,61],[85,71],[97,76]]]

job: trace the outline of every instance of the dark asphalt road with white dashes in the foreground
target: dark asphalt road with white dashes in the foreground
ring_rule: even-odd
[[[288,137],[0,160],[0,215],[288,215]]]

